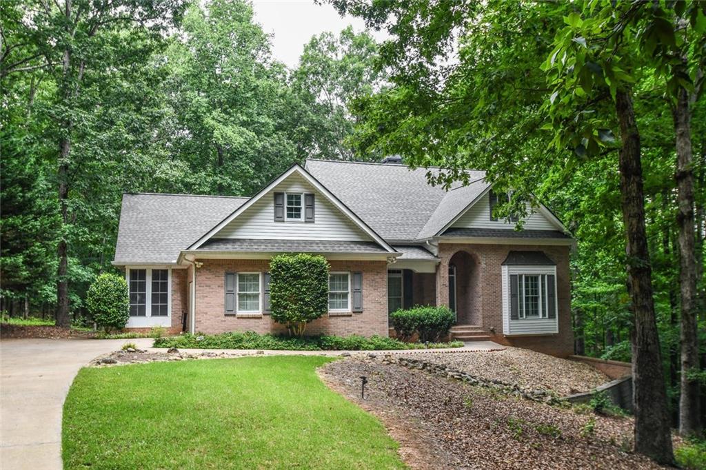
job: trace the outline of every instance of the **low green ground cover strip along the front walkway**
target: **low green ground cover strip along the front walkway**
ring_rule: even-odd
[[[373,335],[347,337],[321,335],[314,337],[281,337],[256,332],[228,332],[220,335],[186,335],[155,339],[157,348],[199,349],[273,349],[291,351],[384,351],[393,349],[425,349],[426,344],[406,343]],[[462,342],[433,343],[429,348],[462,347]]]

